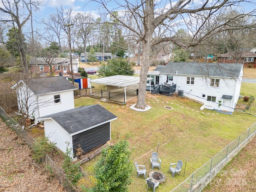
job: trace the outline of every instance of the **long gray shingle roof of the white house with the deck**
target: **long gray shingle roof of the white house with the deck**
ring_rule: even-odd
[[[160,74],[196,75],[238,78],[242,64],[223,63],[178,63],[169,62],[160,70]],[[155,69],[156,70],[156,69]]]

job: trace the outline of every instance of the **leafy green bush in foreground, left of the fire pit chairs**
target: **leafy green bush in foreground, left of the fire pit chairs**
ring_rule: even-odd
[[[133,170],[130,155],[126,139],[102,149],[102,157],[95,165],[95,192],[128,191]]]

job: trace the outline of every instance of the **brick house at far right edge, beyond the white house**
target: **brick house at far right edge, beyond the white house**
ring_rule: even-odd
[[[244,67],[256,67],[256,53],[242,51],[238,55],[225,53],[218,56],[218,63],[242,63]]]

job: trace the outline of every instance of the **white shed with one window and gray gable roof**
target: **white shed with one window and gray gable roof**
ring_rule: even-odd
[[[74,108],[77,88],[63,76],[20,80],[12,88],[16,91],[20,113],[38,117]]]

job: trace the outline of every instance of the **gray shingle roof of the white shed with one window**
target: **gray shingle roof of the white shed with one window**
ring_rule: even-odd
[[[36,95],[76,90],[77,88],[63,76],[34,78],[23,81]]]

